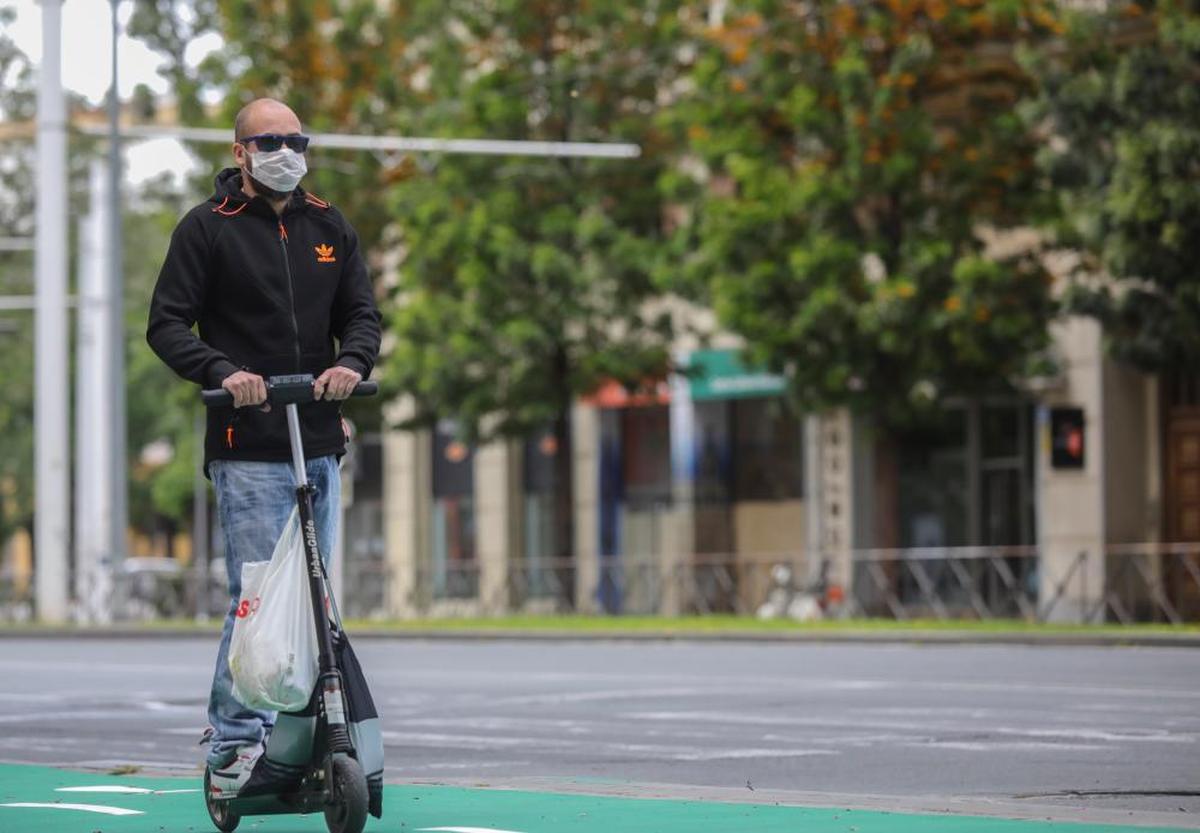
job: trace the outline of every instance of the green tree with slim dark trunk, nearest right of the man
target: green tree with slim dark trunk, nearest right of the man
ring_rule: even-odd
[[[667,370],[650,311],[661,245],[654,127],[680,34],[671,4],[414,4],[425,134],[634,142],[636,160],[442,157],[392,193],[404,260],[386,379],[410,424],[467,439],[553,426],[556,555],[572,555],[569,418],[606,379]]]

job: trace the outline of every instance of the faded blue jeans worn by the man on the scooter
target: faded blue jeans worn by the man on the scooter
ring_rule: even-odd
[[[313,496],[313,520],[317,523],[317,546],[329,564],[337,533],[342,481],[334,455],[307,461],[308,483],[317,490]],[[275,541],[296,505],[295,474],[292,463],[214,460],[209,465],[217,493],[217,514],[224,533],[226,571],[229,576],[229,611],[217,666],[212,675],[209,696],[209,765],[223,766],[240,747],[263,743],[275,724],[274,712],[247,708],[233,696],[229,675],[229,639],[241,595],[241,565],[266,561],[275,550]]]

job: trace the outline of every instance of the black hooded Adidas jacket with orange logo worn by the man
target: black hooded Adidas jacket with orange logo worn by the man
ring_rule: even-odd
[[[220,388],[238,370],[318,376],[335,364],[366,378],[379,353],[379,311],[358,234],[301,188],[278,216],[242,192],[241,172],[222,170],[209,202],[172,234],[146,341],[203,388]],[[301,406],[300,423],[306,457],[346,450],[337,402]],[[283,408],[209,409],[205,471],[212,460],[290,455]]]

